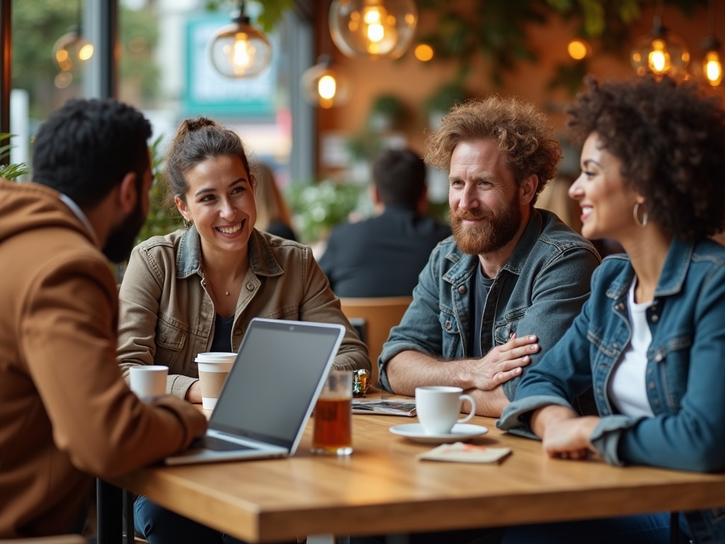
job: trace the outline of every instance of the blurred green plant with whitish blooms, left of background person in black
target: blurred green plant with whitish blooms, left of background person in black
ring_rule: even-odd
[[[319,240],[346,221],[365,192],[365,186],[320,181],[291,184],[285,199],[294,211],[295,228],[304,242]]]

